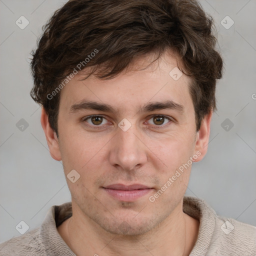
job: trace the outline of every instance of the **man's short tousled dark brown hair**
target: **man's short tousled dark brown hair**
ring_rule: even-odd
[[[189,93],[198,131],[204,115],[216,108],[216,79],[222,76],[212,26],[196,0],[70,0],[43,26],[31,52],[30,95],[58,135],[60,93],[47,95],[95,48],[98,53],[84,67],[94,66],[91,73],[102,79],[118,75],[136,56],[155,52],[157,59],[172,49],[181,58],[182,72],[192,78]]]

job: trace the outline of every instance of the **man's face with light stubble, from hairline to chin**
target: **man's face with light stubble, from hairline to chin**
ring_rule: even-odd
[[[65,176],[80,175],[66,178],[73,216],[115,234],[142,234],[182,211],[191,162],[207,148],[210,117],[196,133],[190,80],[169,75],[177,59],[165,52],[145,68],[149,59],[108,80],[76,74],[61,90],[59,137],[47,138]]]

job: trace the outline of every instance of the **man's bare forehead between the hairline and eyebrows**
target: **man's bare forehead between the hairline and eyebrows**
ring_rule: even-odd
[[[95,75],[83,79],[89,71],[85,68],[62,88],[60,108],[69,111],[73,104],[84,99],[114,105],[119,111],[166,100],[190,107],[190,78],[178,69],[179,59],[168,52],[151,63],[153,58],[153,54],[136,58],[125,71],[111,79],[99,79]]]

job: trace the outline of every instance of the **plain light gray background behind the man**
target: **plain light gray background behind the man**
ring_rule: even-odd
[[[29,53],[64,2],[0,0],[0,242],[20,235],[21,220],[31,230],[51,205],[71,200],[62,164],[48,152],[40,108],[29,96]],[[225,70],[208,153],[194,163],[186,194],[205,199],[219,215],[256,225],[256,0],[200,3],[215,20]],[[15,24],[21,15],[29,21],[24,29]],[[221,25],[226,15],[234,21],[229,29]],[[21,118],[28,123],[23,131],[16,126]],[[229,124],[222,123],[226,118]]]

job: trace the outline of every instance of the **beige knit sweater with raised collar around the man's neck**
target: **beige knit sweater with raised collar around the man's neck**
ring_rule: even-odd
[[[190,256],[256,256],[256,227],[217,216],[204,200],[192,196],[184,196],[183,211],[200,221]],[[40,227],[1,243],[0,256],[74,256],[56,229],[71,215],[71,202],[53,205]]]

